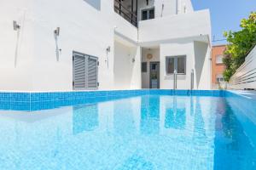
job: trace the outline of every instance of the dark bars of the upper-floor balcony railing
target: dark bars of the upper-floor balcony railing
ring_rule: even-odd
[[[125,20],[128,20],[133,26],[137,26],[137,0],[136,11],[134,11],[134,0],[131,0],[131,10],[126,8],[122,0],[114,0],[114,11],[121,15]]]

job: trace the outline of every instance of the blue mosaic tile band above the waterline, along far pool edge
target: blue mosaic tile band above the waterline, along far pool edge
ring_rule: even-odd
[[[90,99],[111,96],[134,96],[143,94],[164,95],[199,95],[224,96],[224,90],[172,90],[172,89],[145,89],[145,90],[113,90],[113,91],[76,91],[76,92],[42,92],[42,93],[0,93],[0,101],[37,102],[67,99]]]

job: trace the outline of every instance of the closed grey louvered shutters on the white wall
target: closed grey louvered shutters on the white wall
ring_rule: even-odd
[[[73,53],[73,89],[97,89],[98,59],[96,57]]]

